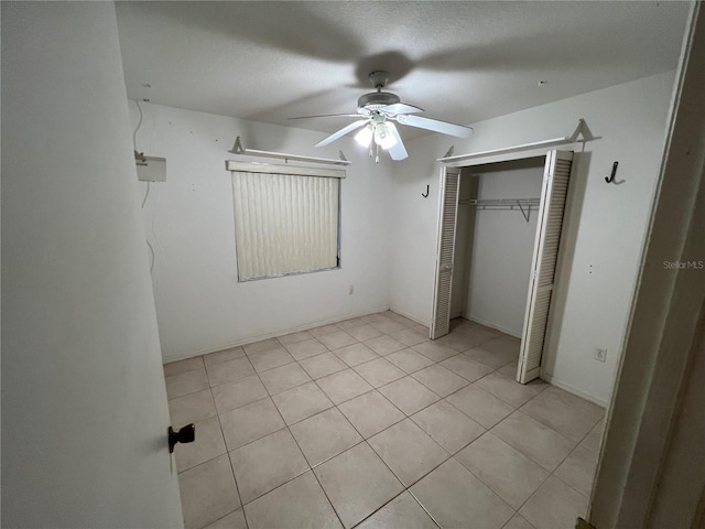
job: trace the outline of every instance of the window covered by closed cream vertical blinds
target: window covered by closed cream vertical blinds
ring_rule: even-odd
[[[228,162],[238,280],[339,267],[343,170]]]

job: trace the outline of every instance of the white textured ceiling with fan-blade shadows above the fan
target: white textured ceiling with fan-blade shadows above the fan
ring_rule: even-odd
[[[375,69],[390,72],[387,89],[424,116],[467,125],[675,68],[687,9],[671,1],[117,3],[130,98],[325,132],[349,121],[288,118],[355,111]],[[424,133],[415,132],[403,136]]]

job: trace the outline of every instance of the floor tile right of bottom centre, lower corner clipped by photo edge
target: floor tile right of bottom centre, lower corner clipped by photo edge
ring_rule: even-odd
[[[514,509],[454,458],[410,490],[441,527],[499,529],[514,515]]]

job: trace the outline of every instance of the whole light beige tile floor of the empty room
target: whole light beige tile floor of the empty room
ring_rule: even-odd
[[[187,528],[572,528],[604,410],[384,312],[164,366]]]

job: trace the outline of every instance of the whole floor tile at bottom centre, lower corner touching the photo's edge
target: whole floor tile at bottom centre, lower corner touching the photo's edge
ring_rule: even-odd
[[[346,528],[350,528],[403,490],[403,485],[367,443],[314,468]]]

